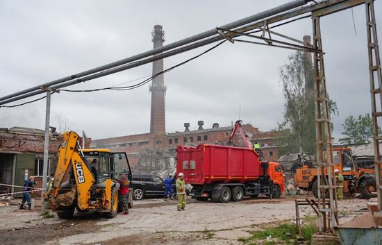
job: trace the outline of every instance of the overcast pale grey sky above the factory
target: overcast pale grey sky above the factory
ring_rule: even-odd
[[[165,43],[208,31],[289,1],[0,1],[0,96],[121,60],[153,48],[151,31],[163,25]],[[346,117],[371,111],[365,6],[322,17],[326,86],[338,105],[335,141]],[[375,2],[382,40],[381,1]],[[354,28],[355,24],[355,28]],[[302,40],[312,35],[310,18],[274,28]],[[164,60],[172,67],[210,46]],[[217,49],[165,74],[166,131],[197,129],[242,119],[259,130],[283,121],[279,67],[294,51],[225,42]],[[151,75],[152,65],[128,69],[69,89],[94,89]],[[38,98],[35,97],[35,98]],[[32,99],[35,99],[32,98]],[[29,101],[26,99],[24,101]],[[51,126],[67,127],[101,139],[148,133],[149,84],[130,91],[69,93],[51,96]],[[18,101],[16,103],[24,102]],[[0,128],[44,128],[45,100],[0,109]],[[61,126],[62,123],[61,123]]]

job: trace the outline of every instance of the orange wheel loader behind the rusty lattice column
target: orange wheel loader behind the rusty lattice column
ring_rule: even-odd
[[[362,198],[371,198],[375,196],[376,180],[374,169],[356,168],[351,149],[349,147],[333,149],[334,169],[338,169],[344,176],[344,195],[348,197],[360,193]],[[327,176],[328,170],[324,168],[324,174]],[[300,189],[312,191],[315,197],[318,197],[317,168],[303,166],[296,170],[294,177],[295,184]]]

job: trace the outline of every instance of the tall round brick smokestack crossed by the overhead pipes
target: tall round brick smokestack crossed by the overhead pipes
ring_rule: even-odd
[[[162,26],[155,25],[151,33],[153,41],[153,49],[163,46],[165,42],[165,31]],[[163,60],[153,62],[153,75],[163,71]],[[166,86],[163,74],[153,79],[150,85],[151,92],[151,121],[150,133],[165,133],[165,92]]]

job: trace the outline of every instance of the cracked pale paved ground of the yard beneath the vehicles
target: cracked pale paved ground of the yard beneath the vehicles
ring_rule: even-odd
[[[367,201],[347,200],[339,205],[341,221],[363,212]],[[136,201],[128,216],[103,219],[94,214],[63,221],[42,219],[38,212],[0,208],[1,244],[242,244],[247,230],[264,223],[292,221],[294,199],[247,198],[238,203],[189,201],[187,210],[176,211],[175,201]],[[301,215],[313,216],[308,207]]]

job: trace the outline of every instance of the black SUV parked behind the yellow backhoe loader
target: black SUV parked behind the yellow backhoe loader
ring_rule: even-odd
[[[131,185],[134,200],[141,200],[144,196],[163,196],[165,188],[163,179],[153,174],[133,174]]]

